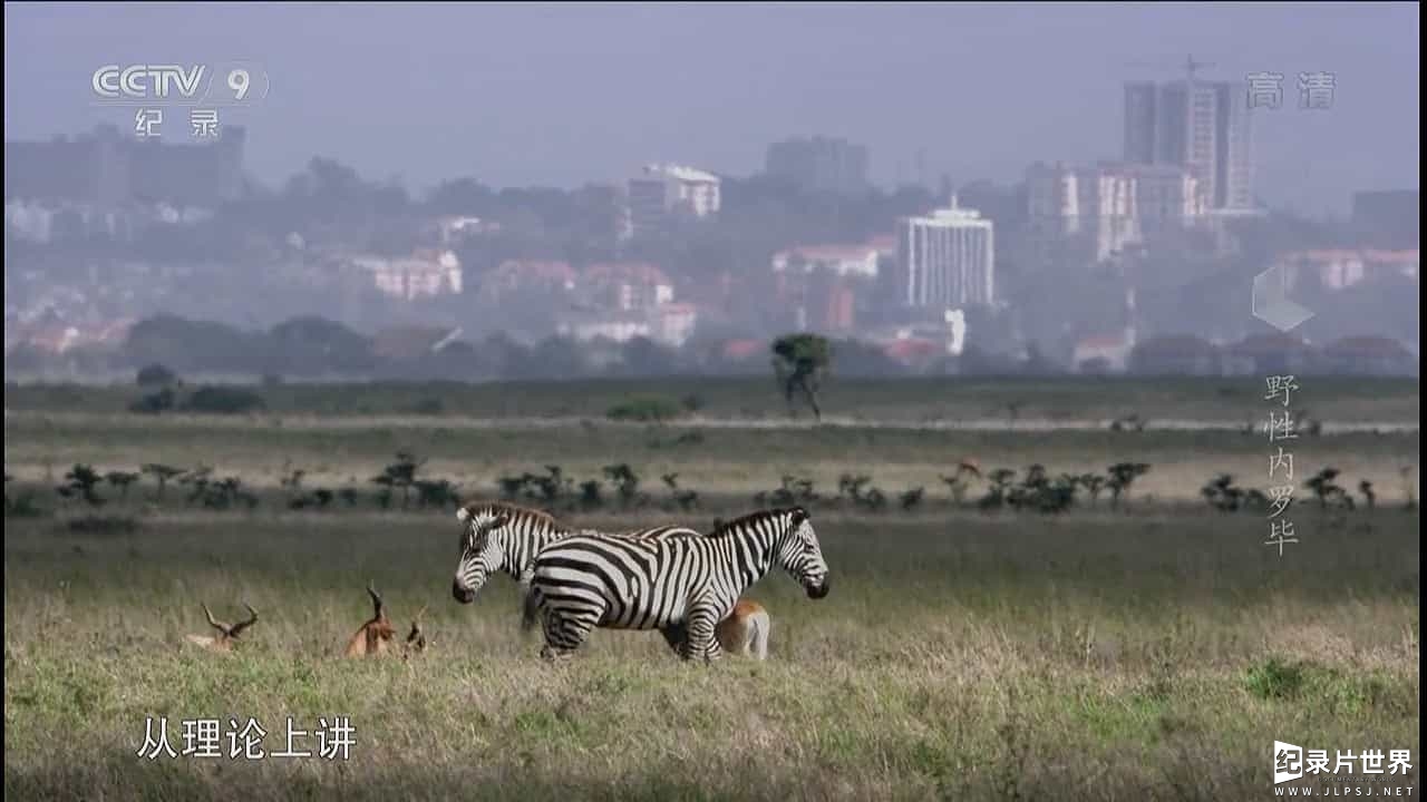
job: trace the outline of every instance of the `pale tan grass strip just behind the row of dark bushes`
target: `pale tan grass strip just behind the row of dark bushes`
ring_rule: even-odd
[[[39,482],[44,492],[76,462],[104,471],[137,471],[147,462],[178,468],[213,467],[253,488],[277,488],[294,468],[311,487],[368,492],[371,477],[407,450],[427,460],[422,471],[458,484],[465,495],[497,492],[502,475],[544,472],[559,465],[578,481],[601,478],[605,465],[625,462],[641,489],[659,498],[659,477],[705,498],[731,497],[741,507],[783,475],[808,477],[821,495],[835,495],[841,475],[866,474],[885,492],[923,487],[946,498],[940,477],[959,461],[985,471],[1025,471],[1043,464],[1052,474],[1104,471],[1119,461],[1143,461],[1150,472],[1134,494],[1166,502],[1199,502],[1199,489],[1220,472],[1241,484],[1267,485],[1269,442],[1263,432],[1233,431],[913,431],[875,428],[695,430],[676,425],[599,424],[459,427],[440,422],[382,422],[334,427],[324,421],[141,415],[44,415],[6,418],[6,471]],[[1416,494],[1420,435],[1340,434],[1290,444],[1304,478],[1323,467],[1343,471],[1344,484],[1371,481],[1383,498]],[[1401,469],[1411,468],[1406,478]],[[975,494],[983,489],[973,488]],[[144,489],[141,492],[151,492]]]

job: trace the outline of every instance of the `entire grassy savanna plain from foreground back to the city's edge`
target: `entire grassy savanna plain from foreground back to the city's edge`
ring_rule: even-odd
[[[1213,387],[1180,390],[1203,398]],[[1341,397],[1320,391],[1314,412],[1416,414],[1416,385],[1396,400],[1341,387]],[[1264,515],[1196,499],[1223,471],[1267,485],[1261,435],[497,428],[378,422],[354,407],[331,425],[285,412],[147,418],[96,401],[118,391],[47,407],[34,401],[44,392],[59,391],[14,402],[6,392],[6,471],[19,477],[7,495],[27,487],[40,509],[6,518],[4,791],[16,799],[1257,799],[1273,796],[1273,741],[1411,749],[1411,773],[1378,785],[1417,793],[1420,514],[1403,504],[1417,492],[1416,432],[1294,444],[1300,484],[1337,465],[1349,488],[1373,478],[1378,504],[1296,505],[1301,542],[1280,557],[1263,544]],[[341,407],[364,391],[327,392]],[[521,417],[565,397],[604,402],[594,391],[529,392],[511,407]],[[902,420],[923,402],[906,387],[872,395],[893,400],[885,417]],[[1263,410],[1247,395],[1240,405],[1244,417]],[[1391,417],[1383,408],[1371,414]],[[815,505],[833,591],[809,601],[781,574],[751,591],[773,619],[765,664],[684,665],[655,634],[598,631],[577,659],[547,666],[519,631],[512,581],[492,579],[472,606],[451,599],[450,508],[370,501],[368,478],[401,448],[428,457],[422,469],[458,481],[464,497],[489,498],[499,475],[548,462],[579,478],[629,462],[658,504],[658,477],[679,472],[704,494],[686,515],[699,525],[748,511],[751,492],[785,472],[816,479],[823,495],[842,472],[862,472],[889,492],[920,484],[935,498],[882,514]],[[938,479],[965,457],[987,469],[1152,469],[1116,511],[1102,499],[1063,515],[980,514],[953,508]],[[74,462],[208,464],[261,491],[261,504],[203,509],[174,488],[156,501],[147,484],[121,502],[103,487],[98,512],[124,527],[77,527],[91,511],[50,489]],[[291,467],[310,471],[308,487],[351,482],[364,498],[288,511],[278,478]],[[572,515],[592,527],[685,518]],[[402,634],[430,605],[425,654],[338,656],[371,612],[368,579]],[[204,602],[227,619],[243,602],[260,611],[235,654],[184,642],[205,634]],[[347,761],[148,761],[137,756],[146,716],[167,716],[176,751],[186,718],[221,719],[225,732],[228,718],[253,716],[273,752],[287,716],[308,731],[318,716],[350,716],[355,743]]]

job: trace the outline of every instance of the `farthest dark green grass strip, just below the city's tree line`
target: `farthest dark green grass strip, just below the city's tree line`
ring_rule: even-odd
[[[1410,378],[1301,377],[1294,404],[1326,421],[1413,422],[1420,382]],[[766,377],[591,380],[571,382],[381,382],[255,387],[275,415],[417,415],[475,418],[602,418],[634,397],[696,400],[712,418],[786,418],[772,374]],[[7,384],[7,411],[123,412],[140,388]],[[878,421],[1020,418],[1109,421],[1139,414],[1154,420],[1259,420],[1264,378],[960,378],[898,381],[833,377],[822,392],[825,414]],[[806,415],[806,412],[805,412]]]

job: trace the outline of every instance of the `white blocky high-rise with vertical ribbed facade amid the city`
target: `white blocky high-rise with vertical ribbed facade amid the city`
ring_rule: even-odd
[[[992,304],[995,238],[992,221],[970,208],[898,220],[898,294],[915,308]]]

